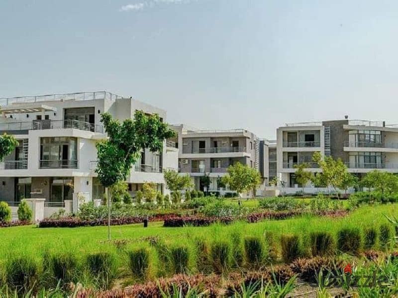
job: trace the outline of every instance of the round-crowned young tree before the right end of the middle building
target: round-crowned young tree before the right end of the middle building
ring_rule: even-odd
[[[236,191],[239,197],[243,192],[253,190],[261,183],[260,173],[240,162],[230,165],[227,174],[221,179],[231,190]]]

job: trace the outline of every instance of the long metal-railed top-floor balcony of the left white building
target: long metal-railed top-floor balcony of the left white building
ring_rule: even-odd
[[[78,120],[35,120],[31,122],[0,123],[0,131],[24,131],[74,128],[89,132],[103,133],[102,125]]]

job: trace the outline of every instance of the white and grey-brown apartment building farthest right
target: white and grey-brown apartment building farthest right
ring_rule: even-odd
[[[295,165],[312,161],[315,151],[341,158],[358,176],[380,169],[398,172],[398,125],[384,121],[333,120],[286,124],[277,129],[277,173],[286,187],[295,187]]]

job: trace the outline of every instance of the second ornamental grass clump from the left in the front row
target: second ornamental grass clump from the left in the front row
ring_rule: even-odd
[[[51,265],[56,284],[61,282],[61,285],[65,285],[73,282],[76,278],[77,264],[76,255],[71,252],[53,255],[51,257]]]

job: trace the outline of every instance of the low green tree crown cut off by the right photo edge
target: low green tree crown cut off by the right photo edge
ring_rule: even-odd
[[[398,192],[398,177],[393,173],[373,170],[362,178],[360,185],[389,195]]]

